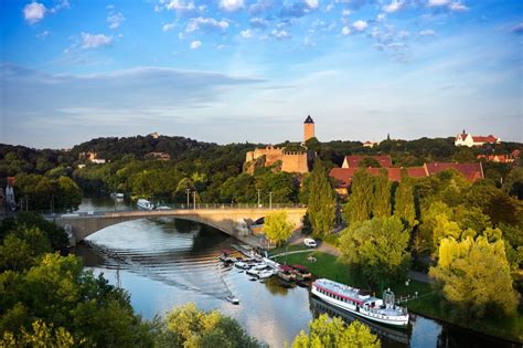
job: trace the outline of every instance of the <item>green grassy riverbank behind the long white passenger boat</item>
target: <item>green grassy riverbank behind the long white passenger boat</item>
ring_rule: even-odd
[[[285,247],[279,252],[285,252]],[[273,254],[277,253],[278,252],[275,252]],[[314,256],[317,262],[308,261],[307,259],[310,255]],[[367,283],[362,275],[354,274],[354,272],[351,272],[351,268],[348,265],[342,264],[338,261],[338,257],[330,254],[311,251],[310,253],[279,256],[275,261],[285,263],[286,257],[287,264],[305,265],[317,277],[324,277],[351,286],[367,288]],[[482,320],[465,321],[449,317],[448,312],[440,306],[442,300],[441,294],[433,289],[430,284],[410,281],[408,286],[405,284],[405,282],[398,282],[396,284],[392,284],[389,287],[394,291],[396,298],[406,295],[414,295],[415,292],[418,293],[417,299],[412,299],[405,304],[405,306],[413,313],[450,323],[482,334],[500,337],[502,339],[510,339],[513,341],[523,340],[523,313],[521,310],[515,315],[505,318],[485,318]]]

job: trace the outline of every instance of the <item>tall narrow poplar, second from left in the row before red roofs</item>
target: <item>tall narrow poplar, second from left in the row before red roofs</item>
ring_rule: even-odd
[[[344,215],[349,223],[369,220],[372,213],[372,193],[374,177],[364,169],[354,173],[349,202],[344,205]]]

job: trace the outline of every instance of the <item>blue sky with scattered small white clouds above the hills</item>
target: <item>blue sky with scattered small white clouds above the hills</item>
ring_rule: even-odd
[[[521,0],[2,0],[0,143],[523,141]]]

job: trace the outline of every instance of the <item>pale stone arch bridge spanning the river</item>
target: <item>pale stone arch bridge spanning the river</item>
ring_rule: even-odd
[[[296,229],[302,225],[307,208],[222,208],[222,209],[169,209],[138,211],[107,211],[94,213],[75,213],[47,217],[70,234],[71,244],[84,240],[88,235],[125,221],[148,218],[175,218],[195,221],[213,226],[233,236],[245,236],[249,233],[245,220],[256,221],[270,212],[286,211],[287,219]]]

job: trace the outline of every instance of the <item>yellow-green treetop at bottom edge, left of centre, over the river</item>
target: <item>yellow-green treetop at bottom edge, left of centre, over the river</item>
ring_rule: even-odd
[[[159,347],[259,347],[236,320],[217,310],[199,310],[192,303],[168,314],[156,342]]]

